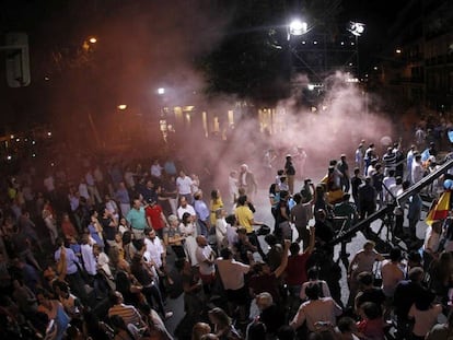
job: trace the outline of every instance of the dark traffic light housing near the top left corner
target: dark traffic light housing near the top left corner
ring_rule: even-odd
[[[8,85],[30,85],[28,36],[25,33],[7,33],[4,42],[5,46],[0,46],[0,49],[5,50]]]

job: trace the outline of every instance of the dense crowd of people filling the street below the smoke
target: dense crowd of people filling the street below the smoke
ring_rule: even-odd
[[[396,200],[439,166],[435,144],[420,146],[378,155],[362,141],[351,166],[341,154],[318,184],[301,176],[302,148],[267,151],[267,223],[255,219],[263,187],[246,164],[230,173],[225,197],[172,157],[10,174],[1,329],[23,339],[448,339],[453,219],[417,234],[421,196],[437,199],[443,179]],[[407,251],[380,254],[368,226],[363,249],[348,254],[341,239],[335,259],[337,235],[391,202],[393,241],[413,241]],[[171,333],[166,302],[181,294],[185,314]]]

